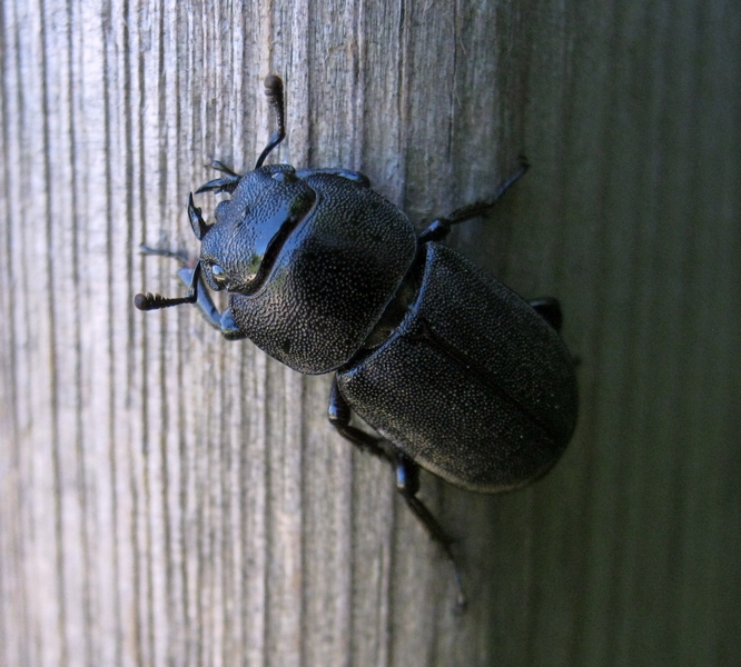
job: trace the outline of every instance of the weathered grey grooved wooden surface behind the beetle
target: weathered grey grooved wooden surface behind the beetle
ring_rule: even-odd
[[[0,4],[0,663],[739,664],[741,6],[160,4]],[[463,616],[327,377],[131,306],[269,71],[278,158],[416,221],[533,165],[451,242],[561,298],[581,418],[527,490],[424,477]]]

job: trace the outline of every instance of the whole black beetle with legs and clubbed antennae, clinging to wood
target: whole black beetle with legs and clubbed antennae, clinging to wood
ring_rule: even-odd
[[[453,561],[449,539],[416,496],[419,466],[473,491],[514,489],[553,466],[576,421],[559,302],[524,301],[439,245],[527,165],[492,199],[416,232],[362,173],[264,167],[285,137],[283,81],[269,76],[265,88],[278,128],[255,169],[241,176],[214,163],[224,176],[197,192],[231,198],[213,225],[189,197],[201,248],[195,268],[178,272],[188,295],[139,293],[136,307],[198,302],[228,339],[249,338],[300,372],[334,371],[329,421],[394,466],[399,492]],[[202,281],[229,292],[228,309],[218,312]],[[350,426],[352,411],[382,437]]]

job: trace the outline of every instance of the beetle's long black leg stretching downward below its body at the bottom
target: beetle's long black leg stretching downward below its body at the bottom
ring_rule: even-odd
[[[404,498],[406,506],[422,524],[429,538],[439,545],[451,561],[455,584],[458,588],[457,606],[458,608],[465,607],[466,599],[461,583],[461,574],[458,573],[451,548],[453,540],[445,534],[425,504],[417,498],[417,491],[419,490],[419,466],[402,454],[388,440],[374,437],[359,428],[350,426],[352,409],[339,391],[337,376],[332,380],[327,416],[329,424],[337,429],[340,436],[353,442],[358,449],[383,458],[392,465],[396,474],[396,489]]]

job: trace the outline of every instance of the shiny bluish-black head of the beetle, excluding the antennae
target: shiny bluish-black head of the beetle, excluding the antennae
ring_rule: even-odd
[[[216,207],[214,225],[191,215],[194,232],[201,241],[201,276],[208,286],[256,291],[315,199],[293,167],[270,165],[243,177],[231,199]]]

